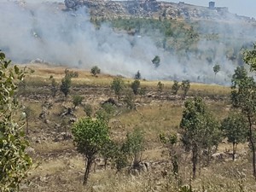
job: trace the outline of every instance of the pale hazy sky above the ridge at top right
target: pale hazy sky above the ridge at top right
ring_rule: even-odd
[[[166,0],[168,2],[184,2],[201,6],[208,6],[209,0]],[[230,13],[256,18],[256,0],[213,0],[217,7],[228,7]]]

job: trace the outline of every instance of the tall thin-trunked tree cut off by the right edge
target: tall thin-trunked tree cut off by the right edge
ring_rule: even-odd
[[[253,176],[256,177],[255,142],[253,136],[254,118],[256,113],[256,83],[253,77],[248,77],[244,67],[237,67],[232,77],[231,102],[234,108],[239,108],[247,118],[248,140],[253,153]]]

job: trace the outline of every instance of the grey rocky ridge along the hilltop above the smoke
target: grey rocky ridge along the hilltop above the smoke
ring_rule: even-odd
[[[253,19],[230,14],[227,8],[207,8],[180,3],[167,3],[156,0],[104,1],[104,0],[65,0],[67,9],[86,6],[91,16],[115,17],[154,17],[167,19],[200,20],[246,20]]]

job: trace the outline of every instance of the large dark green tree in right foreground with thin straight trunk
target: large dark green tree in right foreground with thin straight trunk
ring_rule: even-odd
[[[217,122],[208,113],[205,102],[201,97],[189,99],[184,103],[183,118],[180,123],[182,142],[186,150],[192,151],[193,178],[202,149],[212,148],[218,144]],[[212,137],[213,136],[213,137]]]

